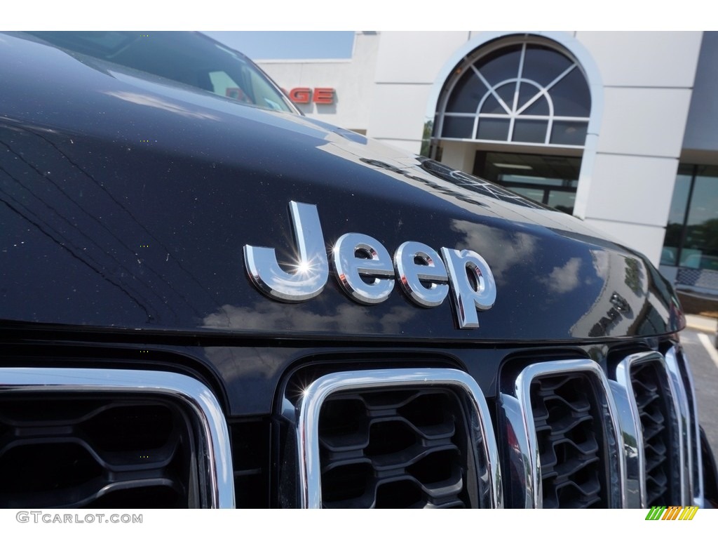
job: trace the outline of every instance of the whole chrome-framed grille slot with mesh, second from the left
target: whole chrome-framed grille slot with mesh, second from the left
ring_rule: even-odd
[[[294,425],[300,507],[503,505],[488,408],[464,372],[326,374],[285,395],[283,415]]]

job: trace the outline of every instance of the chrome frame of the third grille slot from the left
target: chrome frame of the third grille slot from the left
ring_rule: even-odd
[[[615,448],[617,459],[607,459],[607,466],[610,468],[610,482],[607,484],[610,507],[625,506],[625,464],[623,444],[618,443],[619,433],[622,432],[618,422],[618,412],[612,398],[612,390],[609,386],[601,367],[590,359],[562,359],[546,361],[545,363],[532,364],[524,368],[514,383],[514,395],[500,395],[503,410],[508,410],[505,415],[507,427],[512,428],[518,443],[519,460],[521,469],[528,471],[523,478],[526,484],[526,507],[543,507],[543,486],[541,484],[541,459],[539,457],[538,441],[536,439],[536,427],[533,423],[531,410],[531,383],[540,377],[584,373],[592,379],[595,388],[595,395],[603,408],[604,424],[610,425],[606,428],[606,443]],[[512,402],[511,397],[518,403]],[[519,440],[518,434],[523,436]],[[526,448],[526,452],[523,448]],[[516,464],[515,464],[516,466]],[[531,488],[533,487],[533,488]]]

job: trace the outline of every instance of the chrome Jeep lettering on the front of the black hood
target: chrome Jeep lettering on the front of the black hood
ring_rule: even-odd
[[[244,264],[251,282],[274,300],[290,303],[320,295],[327,285],[330,262],[317,206],[290,202],[297,260],[285,271],[271,247],[244,246]],[[340,287],[363,305],[385,301],[398,280],[412,303],[438,307],[451,292],[454,318],[460,328],[478,328],[478,310],[496,300],[496,283],[486,261],[474,251],[441,248],[441,255],[419,241],[405,241],[393,258],[378,239],[344,234],[331,250]]]

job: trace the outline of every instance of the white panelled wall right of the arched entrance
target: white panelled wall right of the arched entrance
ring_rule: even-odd
[[[597,152],[576,214],[658,265],[701,32],[577,32],[604,84]]]

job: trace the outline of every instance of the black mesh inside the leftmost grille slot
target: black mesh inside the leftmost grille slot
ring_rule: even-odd
[[[192,507],[193,445],[164,400],[4,397],[0,507]]]

